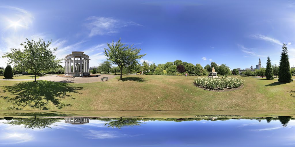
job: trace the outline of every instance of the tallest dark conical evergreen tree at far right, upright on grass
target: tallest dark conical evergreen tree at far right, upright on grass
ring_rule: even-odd
[[[288,56],[288,49],[286,44],[283,44],[282,47],[282,54],[280,60],[280,67],[278,70],[278,81],[279,82],[292,82],[292,75],[290,72],[290,63],[289,63],[289,56]]]

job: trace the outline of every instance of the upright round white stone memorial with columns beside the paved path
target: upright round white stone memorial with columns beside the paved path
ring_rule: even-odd
[[[65,75],[89,76],[89,60],[89,56],[83,51],[72,51],[72,54],[65,56]]]

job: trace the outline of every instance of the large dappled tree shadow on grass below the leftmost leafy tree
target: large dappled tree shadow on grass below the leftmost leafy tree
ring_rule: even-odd
[[[31,108],[38,108],[40,110],[48,110],[46,107],[49,103],[53,103],[58,109],[71,104],[60,103],[60,98],[69,97],[67,93],[78,93],[77,90],[82,90],[83,87],[73,87],[69,83],[60,83],[53,81],[38,81],[34,82],[20,82],[12,86],[3,86],[3,92],[10,92],[15,97],[0,96],[7,102],[14,105]],[[79,93],[81,94],[81,93]],[[11,110],[22,110],[22,108],[9,108]]]

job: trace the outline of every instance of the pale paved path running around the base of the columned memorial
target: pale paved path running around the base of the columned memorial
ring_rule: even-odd
[[[109,77],[109,79],[114,78],[115,75],[107,75],[102,74],[99,77],[90,77],[90,78],[63,78],[57,77],[56,75],[52,76],[41,76],[37,80],[47,80],[47,81],[55,81],[55,82],[63,82],[63,83],[94,83],[94,82],[101,82],[102,77]],[[34,79],[0,79],[1,81],[33,81]]]

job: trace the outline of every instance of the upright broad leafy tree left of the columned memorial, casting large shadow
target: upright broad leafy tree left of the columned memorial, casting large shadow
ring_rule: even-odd
[[[20,44],[24,50],[10,49],[12,53],[6,52],[3,58],[8,58],[9,64],[14,64],[14,67],[19,71],[32,71],[35,74],[34,82],[37,82],[36,77],[40,71],[55,69],[60,64],[60,60],[57,60],[53,55],[57,48],[53,50],[49,48],[51,41],[46,44],[42,39],[39,39],[38,42],[33,39],[26,40],[27,42]]]

